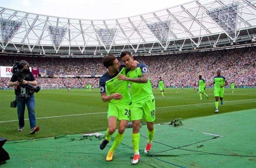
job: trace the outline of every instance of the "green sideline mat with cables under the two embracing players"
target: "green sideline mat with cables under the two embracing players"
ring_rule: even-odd
[[[144,153],[148,136],[143,125],[140,131],[141,158],[137,165],[131,165],[130,128],[125,130],[122,144],[116,148],[111,162],[106,162],[105,157],[113,139],[100,150],[99,143],[104,136],[76,134],[7,142],[3,147],[11,159],[0,167],[256,167],[256,109],[190,118],[182,123],[176,127],[155,124],[150,154]],[[101,133],[105,134],[105,131]]]

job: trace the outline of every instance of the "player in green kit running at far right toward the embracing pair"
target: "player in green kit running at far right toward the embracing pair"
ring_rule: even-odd
[[[224,97],[224,87],[227,85],[226,78],[224,76],[221,76],[221,70],[217,70],[217,76],[213,78],[212,84],[214,84],[215,112],[218,112],[218,99],[221,99],[222,106]]]

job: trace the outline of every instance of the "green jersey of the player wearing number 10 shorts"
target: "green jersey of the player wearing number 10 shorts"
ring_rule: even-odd
[[[128,78],[140,78],[143,73],[148,73],[148,67],[145,64],[138,64],[135,70],[130,70],[127,73]],[[150,80],[147,83],[129,82],[131,86],[131,101],[132,103],[140,103],[154,99]]]

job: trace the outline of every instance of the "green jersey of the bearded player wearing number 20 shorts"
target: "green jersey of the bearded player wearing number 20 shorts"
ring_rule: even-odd
[[[122,81],[117,79],[119,75],[124,75],[127,68],[122,68],[122,70],[113,78],[105,82],[105,88],[107,95],[112,95],[113,93],[119,93],[122,95],[122,99],[116,100],[112,99],[110,103],[131,103],[131,95],[128,89],[128,81]]]

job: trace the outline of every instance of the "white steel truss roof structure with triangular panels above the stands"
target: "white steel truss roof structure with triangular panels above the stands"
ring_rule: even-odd
[[[53,17],[0,7],[0,48],[17,52],[96,55],[128,49],[137,53],[215,47],[223,41],[255,37],[256,0],[195,0],[111,20]]]

